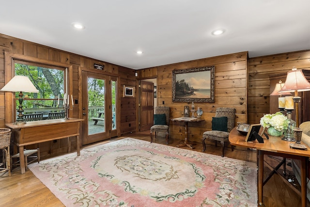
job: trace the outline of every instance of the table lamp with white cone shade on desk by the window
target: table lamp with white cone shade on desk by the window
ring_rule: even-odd
[[[31,80],[27,76],[14,76],[13,79],[11,79],[0,91],[10,91],[10,92],[16,92],[19,91],[19,106],[18,106],[18,117],[16,118],[16,124],[22,124],[26,123],[24,119],[24,112],[23,110],[23,93],[24,92],[30,92],[30,93],[38,93],[39,91],[35,88]]]

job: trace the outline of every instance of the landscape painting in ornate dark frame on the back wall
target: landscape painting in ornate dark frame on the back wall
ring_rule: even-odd
[[[215,66],[172,71],[172,101],[215,102]]]

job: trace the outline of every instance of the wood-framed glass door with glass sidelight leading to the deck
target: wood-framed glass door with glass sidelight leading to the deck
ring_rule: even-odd
[[[82,144],[117,136],[117,78],[82,71]]]

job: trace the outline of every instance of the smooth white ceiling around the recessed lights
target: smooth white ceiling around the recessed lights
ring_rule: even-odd
[[[257,57],[310,49],[310,0],[5,0],[0,5],[2,34],[133,69],[242,51]],[[78,31],[73,22],[85,29]],[[218,28],[226,32],[212,35]]]

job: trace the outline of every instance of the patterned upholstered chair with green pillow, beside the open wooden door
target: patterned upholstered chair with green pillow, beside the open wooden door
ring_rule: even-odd
[[[155,132],[155,139],[158,132],[166,134],[166,143],[169,139],[169,121],[170,108],[168,106],[156,106],[154,112],[154,126],[151,127],[151,143],[153,142],[153,132]]]

